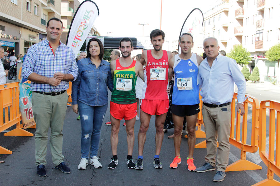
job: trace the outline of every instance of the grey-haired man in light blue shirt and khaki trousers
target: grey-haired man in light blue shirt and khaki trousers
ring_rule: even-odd
[[[207,58],[199,66],[199,87],[202,96],[202,115],[206,133],[207,155],[205,163],[195,171],[217,172],[213,181],[223,181],[228,164],[230,151],[229,135],[231,125],[231,101],[234,92],[234,83],[238,88],[237,112],[242,116],[245,113],[243,102],[246,100],[246,82],[238,68],[236,61],[218,53],[219,45],[216,38],[206,38],[203,41]],[[217,163],[217,139],[219,141]]]

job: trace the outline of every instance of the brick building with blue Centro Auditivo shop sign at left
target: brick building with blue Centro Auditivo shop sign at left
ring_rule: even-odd
[[[25,54],[29,47],[46,38],[46,22],[60,18],[59,0],[0,0],[0,45]]]

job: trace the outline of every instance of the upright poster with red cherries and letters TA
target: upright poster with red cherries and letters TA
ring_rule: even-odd
[[[32,91],[30,83],[19,83],[20,87],[20,108],[21,108],[21,121],[23,128],[29,128],[35,125],[34,115],[31,104]]]

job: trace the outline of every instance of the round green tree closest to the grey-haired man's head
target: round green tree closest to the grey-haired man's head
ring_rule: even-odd
[[[250,57],[250,52],[243,48],[242,45],[235,45],[231,49],[231,53],[227,54],[228,57],[236,60],[237,64],[243,66],[243,64],[248,64],[252,58]]]

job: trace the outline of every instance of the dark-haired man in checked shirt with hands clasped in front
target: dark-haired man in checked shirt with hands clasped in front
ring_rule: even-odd
[[[46,176],[48,131],[54,167],[64,173],[71,170],[62,154],[63,121],[68,101],[68,82],[75,81],[78,67],[72,49],[60,42],[62,21],[51,18],[47,38],[28,50],[22,66],[23,77],[31,81],[32,108],[36,122],[35,159],[37,175]]]

